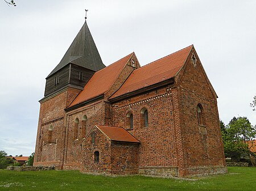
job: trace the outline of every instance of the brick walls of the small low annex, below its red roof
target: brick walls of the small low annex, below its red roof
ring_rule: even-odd
[[[98,162],[94,160],[95,151],[100,152]],[[137,174],[138,152],[138,143],[112,142],[100,130],[94,128],[82,143],[81,171],[118,175]]]

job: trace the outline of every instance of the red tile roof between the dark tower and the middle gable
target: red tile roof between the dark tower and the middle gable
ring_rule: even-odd
[[[121,73],[123,67],[125,67],[126,63],[129,61],[132,54],[134,53],[131,53],[126,57],[123,57],[121,60],[112,63],[112,65],[97,71],[93,77],[90,78],[89,82],[86,83],[84,90],[82,90],[75,100],[72,101],[69,107],[82,103],[86,100],[90,100],[107,92],[114,83],[115,79],[117,79],[119,73]]]

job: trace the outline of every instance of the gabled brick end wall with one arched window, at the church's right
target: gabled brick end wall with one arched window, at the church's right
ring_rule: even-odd
[[[188,62],[180,71],[182,75],[176,78],[184,151],[184,161],[181,164],[181,169],[184,171],[180,171],[182,176],[216,173],[218,169],[220,172],[226,171],[217,96],[199,58],[197,58],[196,65],[193,65],[192,59],[190,59],[192,54],[196,53],[191,52]],[[201,125],[197,118],[197,104],[201,104],[203,107],[203,124]],[[217,170],[203,167],[216,167]]]

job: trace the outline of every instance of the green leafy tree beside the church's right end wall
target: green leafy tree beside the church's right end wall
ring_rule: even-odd
[[[225,156],[238,162],[241,155],[250,155],[250,148],[246,141],[253,140],[256,136],[256,129],[247,117],[233,117],[229,124],[221,130],[224,142]]]

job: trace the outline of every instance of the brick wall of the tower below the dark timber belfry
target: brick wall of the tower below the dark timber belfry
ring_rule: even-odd
[[[68,88],[41,101],[34,166],[56,165],[56,168],[62,168],[66,130],[64,109],[78,92],[78,90]],[[49,140],[49,129],[51,128],[52,135]]]

